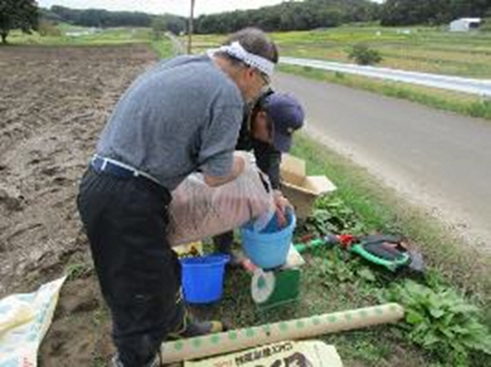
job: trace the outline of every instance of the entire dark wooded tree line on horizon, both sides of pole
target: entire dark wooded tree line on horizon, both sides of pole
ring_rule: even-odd
[[[183,16],[80,10],[58,5],[41,10],[45,19],[55,23],[97,27],[156,26],[158,32],[168,30],[175,34],[187,30],[187,18]],[[223,34],[244,26],[259,26],[265,31],[308,30],[377,21],[382,26],[440,25],[462,16],[491,17],[491,0],[385,0],[383,4],[368,0],[290,0],[260,9],[199,16],[195,20],[195,32]]]

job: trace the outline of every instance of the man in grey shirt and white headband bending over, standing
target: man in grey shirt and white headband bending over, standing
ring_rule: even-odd
[[[220,330],[187,317],[181,268],[166,227],[170,192],[200,170],[210,186],[234,180],[244,105],[269,83],[275,45],[256,28],[214,52],[165,60],[126,90],[80,184],[78,207],[118,353],[112,365],[158,366],[169,335]]]

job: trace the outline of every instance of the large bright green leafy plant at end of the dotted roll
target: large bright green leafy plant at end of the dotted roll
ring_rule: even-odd
[[[442,362],[467,366],[470,351],[491,355],[491,334],[480,320],[479,309],[454,289],[433,290],[406,280],[386,293],[386,298],[405,307],[403,327],[409,339],[434,352]]]

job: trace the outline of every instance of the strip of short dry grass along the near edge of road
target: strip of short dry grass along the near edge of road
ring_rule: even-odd
[[[295,137],[293,153],[307,162],[310,174],[326,174],[338,187],[336,195],[353,210],[365,229],[409,236],[422,246],[432,267],[449,283],[491,300],[491,258],[464,246],[461,240],[395,191],[305,134]]]

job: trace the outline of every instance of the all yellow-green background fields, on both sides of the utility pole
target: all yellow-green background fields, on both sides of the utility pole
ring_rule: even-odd
[[[59,25],[60,36],[23,35],[8,40],[21,45],[108,45],[148,43],[150,28],[108,28],[90,34],[88,28]],[[491,32],[449,32],[444,27],[339,26],[301,32],[272,33],[282,56],[352,62],[348,54],[358,43],[381,54],[380,67],[400,68],[476,79],[491,79]],[[187,37],[180,37],[186,44]],[[193,52],[217,47],[224,35],[195,35]]]

